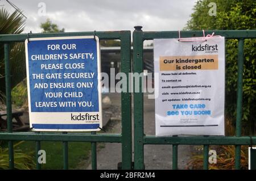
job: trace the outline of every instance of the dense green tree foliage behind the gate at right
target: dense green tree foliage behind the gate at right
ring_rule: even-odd
[[[209,16],[210,2],[217,5],[217,15]],[[200,0],[193,8],[185,30],[255,30],[256,1]],[[254,132],[256,110],[256,41],[246,39],[243,65],[243,128]],[[237,95],[238,40],[226,40],[226,113],[235,123]]]

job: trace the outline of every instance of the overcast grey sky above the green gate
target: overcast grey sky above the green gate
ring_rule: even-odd
[[[135,25],[144,31],[181,30],[185,27],[197,0],[10,0],[27,16],[24,33],[41,32],[47,18],[65,32],[131,30]],[[46,15],[38,14],[39,3],[46,4]],[[5,0],[0,5],[13,10]]]

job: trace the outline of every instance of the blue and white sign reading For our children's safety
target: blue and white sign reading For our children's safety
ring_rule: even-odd
[[[25,41],[32,131],[100,131],[100,45],[97,36]]]

